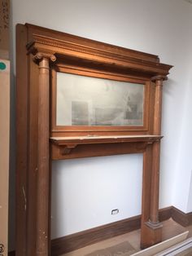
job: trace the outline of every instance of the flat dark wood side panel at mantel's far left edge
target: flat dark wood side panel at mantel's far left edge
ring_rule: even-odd
[[[28,58],[23,51],[28,42],[27,29],[16,27],[16,172],[15,237],[18,256],[27,251],[28,202]],[[22,65],[22,68],[20,68]],[[22,99],[22,100],[20,100]],[[20,145],[20,146],[19,146]]]

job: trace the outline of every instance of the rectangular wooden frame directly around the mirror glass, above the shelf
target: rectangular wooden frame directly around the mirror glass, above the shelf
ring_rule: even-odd
[[[141,126],[59,126],[56,124],[56,115],[57,115],[57,73],[66,73],[76,75],[76,77],[80,77],[81,75],[84,77],[92,77],[92,78],[103,78],[105,81],[109,79],[109,81],[114,82],[130,82],[135,84],[143,85],[143,124]],[[126,75],[117,75],[107,72],[103,72],[103,70],[95,70],[94,68],[85,68],[85,67],[76,67],[69,66],[66,62],[63,64],[55,64],[55,68],[51,71],[51,134],[55,135],[103,135],[104,131],[106,135],[118,135],[118,134],[128,134],[129,131],[146,131],[149,129],[148,123],[148,114],[150,113],[150,82],[146,80],[130,78]],[[77,79],[76,79],[77,80]],[[107,85],[110,87],[110,84]],[[113,85],[116,86],[116,85]]]

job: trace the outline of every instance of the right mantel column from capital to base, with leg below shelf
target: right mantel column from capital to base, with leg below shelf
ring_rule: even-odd
[[[153,135],[161,134],[162,89],[165,78],[157,76],[151,79],[151,81],[155,82]],[[146,150],[144,163],[148,158],[151,158],[151,164],[146,165],[146,167],[143,165],[143,173],[150,178],[148,179],[148,187],[144,187],[142,192],[142,249],[162,241],[163,226],[159,223],[160,140],[151,144],[151,151]],[[145,180],[143,182],[146,184]]]

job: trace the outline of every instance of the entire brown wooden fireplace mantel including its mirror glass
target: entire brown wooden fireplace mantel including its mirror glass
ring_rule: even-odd
[[[69,158],[143,153],[141,247],[161,241],[161,100],[172,66],[31,24],[17,25],[16,51],[16,255],[86,245],[81,234],[82,243],[63,237],[50,246],[50,161]]]

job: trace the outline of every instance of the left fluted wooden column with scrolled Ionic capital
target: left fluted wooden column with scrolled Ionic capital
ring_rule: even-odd
[[[38,86],[38,145],[37,145],[37,248],[36,255],[50,253],[50,61],[54,55],[37,53],[34,60],[39,65]]]

